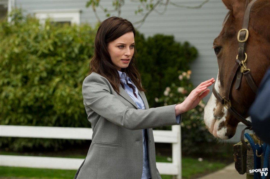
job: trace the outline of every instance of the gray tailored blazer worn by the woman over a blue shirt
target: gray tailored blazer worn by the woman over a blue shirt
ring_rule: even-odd
[[[175,105],[138,109],[120,86],[117,94],[109,81],[97,73],[85,78],[83,104],[91,122],[92,143],[74,178],[140,179],[143,171],[142,129],[147,129],[151,178],[161,178],[156,167],[155,143],[151,128],[176,125]]]

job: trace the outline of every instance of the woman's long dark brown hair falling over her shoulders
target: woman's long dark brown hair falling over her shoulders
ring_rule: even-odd
[[[110,17],[104,20],[97,30],[94,56],[90,63],[89,74],[95,72],[105,77],[117,93],[119,93],[119,85],[121,84],[124,88],[124,84],[120,81],[118,71],[112,63],[107,45],[109,42],[114,41],[128,32],[133,32],[135,37],[135,29],[128,20],[119,17]],[[135,54],[136,49],[134,49],[134,55]],[[141,86],[141,77],[135,65],[136,59],[134,55],[131,58],[129,66],[122,68],[122,72],[126,73],[131,78],[138,90],[145,91]]]

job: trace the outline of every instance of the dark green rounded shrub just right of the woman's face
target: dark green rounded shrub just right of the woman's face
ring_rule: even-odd
[[[176,42],[173,36],[157,34],[144,38],[141,34],[135,37],[137,67],[142,84],[147,89],[146,97],[150,107],[162,106],[154,99],[163,94],[165,87],[176,83],[178,70],[187,71],[189,63],[197,57],[197,50],[188,42]]]

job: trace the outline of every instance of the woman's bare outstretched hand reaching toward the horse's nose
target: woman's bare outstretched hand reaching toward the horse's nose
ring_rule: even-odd
[[[195,108],[199,102],[208,95],[210,89],[207,89],[207,87],[211,86],[214,82],[214,78],[211,78],[210,80],[202,82],[193,89],[181,104],[177,104],[175,106],[176,116]]]

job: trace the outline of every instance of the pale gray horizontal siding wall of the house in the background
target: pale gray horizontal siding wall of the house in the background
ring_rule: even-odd
[[[204,0],[171,0],[175,4],[185,6],[198,6]],[[122,7],[121,17],[136,22],[141,19],[141,15],[135,15],[139,3],[126,0]],[[102,0],[100,4],[108,9],[112,9],[111,0]],[[16,0],[16,7],[21,7],[25,13],[33,13],[35,10],[51,9],[81,9],[81,23],[90,23],[95,26],[97,19],[91,8],[86,8],[86,0]],[[163,8],[157,8],[162,12]],[[156,33],[174,35],[176,41],[188,41],[199,51],[198,58],[191,64],[191,80],[194,85],[211,77],[216,78],[218,72],[217,60],[212,43],[222,29],[222,23],[228,10],[221,0],[210,0],[200,9],[179,8],[168,5],[167,11],[163,15],[152,12],[139,28],[139,31],[146,37]],[[101,20],[106,19],[105,14],[97,8],[97,13]],[[111,13],[117,16],[117,13]],[[136,26],[136,25],[134,25]],[[168,57],[170,60],[170,57]],[[210,95],[205,98],[205,102]]]

